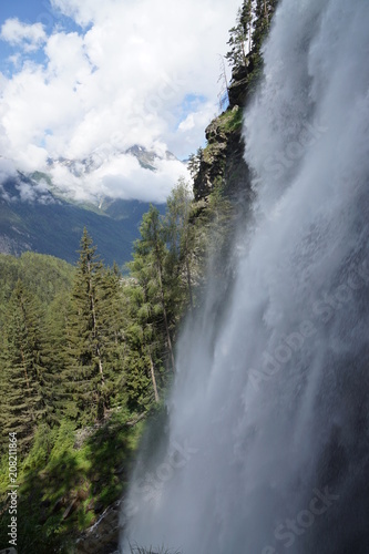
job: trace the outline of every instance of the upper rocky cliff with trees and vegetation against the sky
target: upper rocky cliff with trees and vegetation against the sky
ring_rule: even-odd
[[[189,158],[196,201],[207,201],[217,188],[235,204],[249,204],[249,174],[242,136],[244,107],[263,76],[262,44],[268,33],[277,0],[244,0],[236,25],[229,30],[225,55],[232,68],[228,106],[205,131],[206,146]],[[244,213],[244,216],[246,213]]]

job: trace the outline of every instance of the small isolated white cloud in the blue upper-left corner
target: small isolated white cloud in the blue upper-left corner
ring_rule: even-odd
[[[41,23],[22,23],[17,18],[8,19],[1,27],[0,38],[12,45],[21,45],[25,52],[38,50],[47,35]]]

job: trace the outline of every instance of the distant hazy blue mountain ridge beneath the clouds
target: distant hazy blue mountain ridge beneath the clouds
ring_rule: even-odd
[[[19,256],[31,250],[74,263],[86,227],[104,253],[105,263],[123,266],[131,257],[148,203],[105,203],[106,209],[92,203],[79,204],[21,172],[8,176],[0,184],[0,253]]]

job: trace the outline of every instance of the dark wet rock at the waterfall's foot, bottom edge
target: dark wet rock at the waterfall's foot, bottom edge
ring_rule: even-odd
[[[79,554],[114,554],[119,552],[121,501],[109,506],[98,522],[76,541]]]

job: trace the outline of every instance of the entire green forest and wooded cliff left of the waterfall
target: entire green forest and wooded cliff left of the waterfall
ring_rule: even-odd
[[[242,90],[243,103],[262,74],[275,4],[258,0],[253,10],[245,0],[230,30],[227,94]],[[228,96],[216,132],[192,156],[193,183],[177,183],[164,216],[154,206],[143,216],[129,275],[103,263],[88,229],[75,267],[31,253],[0,256],[1,545],[9,433],[18,440],[19,552],[73,552],[78,534],[124,493],[147,417],[165,420],[178,334],[203,309],[208,270],[223,309],[230,245],[249,209],[247,183],[237,188],[234,177],[243,162],[227,147],[242,144],[243,104],[235,105]]]

